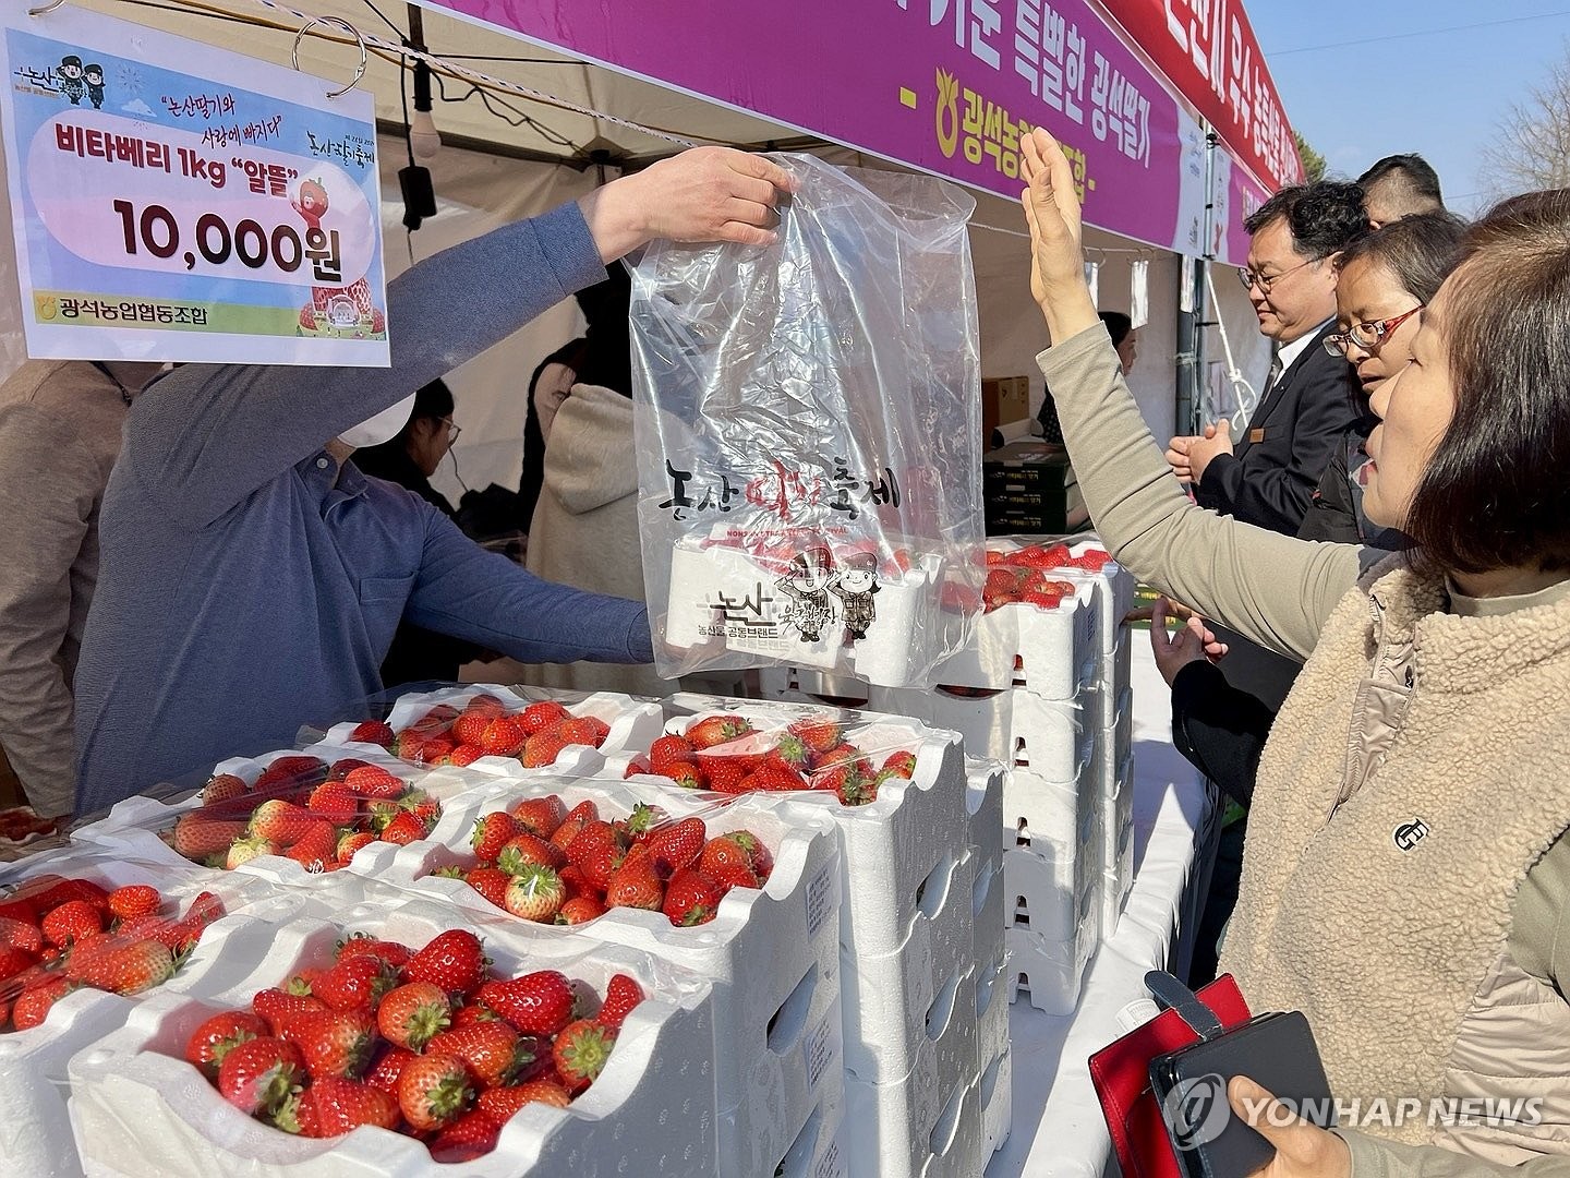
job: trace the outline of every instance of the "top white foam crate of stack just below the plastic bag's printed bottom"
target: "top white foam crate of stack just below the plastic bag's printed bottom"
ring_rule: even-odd
[[[716,701],[705,696],[672,696],[670,707],[694,716],[728,710],[754,724],[782,726],[801,716],[824,715],[826,708],[755,701]],[[915,754],[911,781],[884,782],[878,799],[867,806],[843,806],[824,792],[798,790],[779,795],[783,810],[829,818],[840,836],[840,947],[851,953],[878,955],[900,949],[911,933],[923,886],[942,880],[966,854],[966,770],[955,732],[928,729],[904,718],[843,712],[842,723],[857,730],[854,743]],[[685,730],[689,716],[667,726]]]

